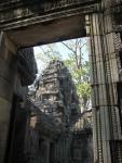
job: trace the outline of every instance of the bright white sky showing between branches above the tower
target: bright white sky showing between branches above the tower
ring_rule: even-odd
[[[86,38],[83,38],[82,40],[85,41]],[[64,41],[64,42],[69,43],[69,41],[70,40],[67,40],[67,41]],[[76,41],[76,39],[71,40],[71,42],[74,42],[74,41]],[[62,42],[51,43],[51,46],[53,47],[54,51],[58,51],[62,54],[62,60],[63,61],[69,58],[70,50],[68,50],[68,48],[66,48]],[[41,59],[43,51],[44,52],[48,51],[46,47],[48,47],[48,45],[33,48],[35,58],[36,58],[36,61],[37,61],[39,73],[41,73],[46,67],[45,62],[43,62],[42,59]],[[89,60],[89,51],[87,51],[86,46],[83,48],[83,53],[84,53],[84,55],[83,55],[84,60],[87,61]]]

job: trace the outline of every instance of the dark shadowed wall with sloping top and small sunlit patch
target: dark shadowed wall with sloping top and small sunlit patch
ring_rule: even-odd
[[[43,114],[31,101],[26,104],[14,96],[5,162],[49,163],[50,145],[60,134],[62,127]]]

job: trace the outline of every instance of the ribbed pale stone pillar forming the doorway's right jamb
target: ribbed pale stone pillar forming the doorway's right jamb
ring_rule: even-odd
[[[118,55],[114,49],[111,18],[112,16],[106,12],[86,16],[86,30],[91,36],[90,61],[95,163],[111,163],[110,142],[120,139],[117,108]]]

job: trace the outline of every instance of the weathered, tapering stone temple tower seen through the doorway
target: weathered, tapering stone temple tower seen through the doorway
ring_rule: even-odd
[[[69,70],[62,61],[51,61],[43,71],[36,95],[36,104],[58,123],[69,126],[80,113],[79,98]]]

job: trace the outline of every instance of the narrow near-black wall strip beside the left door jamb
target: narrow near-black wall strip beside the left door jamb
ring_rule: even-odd
[[[9,139],[5,152],[5,162],[25,163],[25,134],[28,112],[24,108],[24,101],[14,95],[11,120],[9,128]]]

